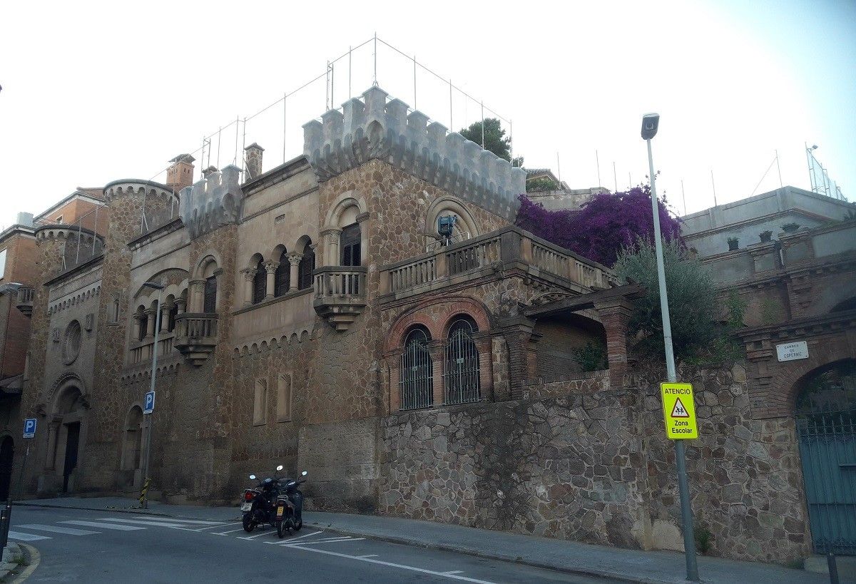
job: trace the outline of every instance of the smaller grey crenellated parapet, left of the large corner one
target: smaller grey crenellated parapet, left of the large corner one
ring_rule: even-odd
[[[181,190],[179,215],[190,236],[235,223],[241,212],[244,194],[241,191],[241,169],[229,164],[222,171],[209,173],[193,187]]]

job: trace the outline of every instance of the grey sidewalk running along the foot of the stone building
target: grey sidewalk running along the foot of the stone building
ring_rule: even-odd
[[[166,515],[183,519],[233,521],[240,518],[236,507],[197,507],[152,502],[150,510],[133,510],[129,498],[55,498],[18,503],[39,507],[62,507]],[[587,545],[563,539],[539,538],[514,533],[476,529],[375,515],[309,512],[306,526],[348,535],[360,535],[405,545],[454,551],[478,557],[526,563],[581,575],[594,575],[634,582],[675,584],[685,582],[684,556],[670,551],[634,551],[602,545]],[[698,573],[710,584],[752,582],[764,584],[822,584],[829,576],[775,565],[737,562],[718,557],[698,557]],[[842,580],[842,584],[845,580]]]

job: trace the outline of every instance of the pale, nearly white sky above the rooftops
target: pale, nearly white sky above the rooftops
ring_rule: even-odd
[[[7,3],[0,21],[0,226],[76,187],[163,182],[169,158],[324,74],[377,32],[514,122],[526,166],[561,162],[572,188],[619,189],[647,174],[643,113],[657,111],[654,160],[678,212],[779,186],[809,188],[804,142],[856,200],[856,2],[146,2]],[[372,83],[372,43],[354,51],[352,94]],[[335,66],[348,98],[348,57]],[[383,44],[377,82],[413,106],[413,62]],[[480,106],[453,98],[455,130]],[[288,98],[286,158],[324,112],[325,81]],[[449,88],[421,69],[416,106],[449,125]],[[490,112],[488,112],[490,115]],[[238,149],[282,163],[282,103],[243,124]],[[235,124],[220,135],[235,157]],[[217,164],[217,136],[211,164]],[[196,155],[199,158],[199,155]],[[205,164],[209,158],[206,155]],[[199,162],[197,171],[202,168]],[[631,177],[628,179],[628,173]],[[756,185],[761,184],[756,190]]]

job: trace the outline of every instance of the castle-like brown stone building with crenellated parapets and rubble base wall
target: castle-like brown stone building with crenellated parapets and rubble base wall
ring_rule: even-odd
[[[105,185],[103,227],[33,230],[27,491],[137,492],[151,421],[171,501],[282,463],[320,508],[679,548],[657,379],[627,359],[639,286],[514,227],[525,171],[377,86],[304,129],[276,168],[253,144],[190,185],[182,154],[169,185]],[[581,371],[590,342],[608,369]],[[810,553],[793,417],[758,416],[742,364],[682,373],[713,552]]]

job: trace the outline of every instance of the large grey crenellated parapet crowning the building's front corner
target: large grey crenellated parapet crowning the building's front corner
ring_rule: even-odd
[[[526,192],[526,171],[493,152],[447,133],[418,110],[409,114],[401,99],[387,100],[374,86],[363,99],[349,99],[342,112],[330,110],[304,128],[303,152],[319,181],[342,174],[372,158],[431,182],[509,220]]]

